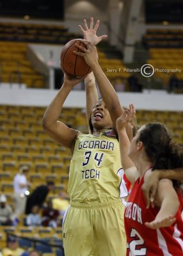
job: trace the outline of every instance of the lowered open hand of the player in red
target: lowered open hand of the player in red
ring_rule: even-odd
[[[157,218],[155,218],[155,220],[151,221],[151,222],[145,222],[145,225],[148,228],[155,229],[155,228],[162,228],[162,227],[171,226],[176,221],[176,218],[172,217],[172,216],[164,217],[161,220],[156,220],[156,219]]]

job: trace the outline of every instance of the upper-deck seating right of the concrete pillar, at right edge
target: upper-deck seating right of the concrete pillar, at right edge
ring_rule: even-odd
[[[159,70],[176,70],[183,67],[183,29],[147,29],[142,38],[143,46],[148,50],[147,63]],[[155,72],[154,76],[163,82],[165,90],[173,72]],[[179,85],[174,93],[183,93],[183,74],[175,72]]]

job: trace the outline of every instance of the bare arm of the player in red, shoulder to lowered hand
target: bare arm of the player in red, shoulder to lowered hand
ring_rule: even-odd
[[[157,189],[157,206],[160,210],[154,221],[146,222],[149,228],[168,227],[175,222],[175,214],[179,209],[179,198],[171,180],[162,179]]]

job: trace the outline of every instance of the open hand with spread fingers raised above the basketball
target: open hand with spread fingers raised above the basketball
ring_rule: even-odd
[[[90,28],[88,28],[87,22],[84,19],[84,29],[81,25],[79,25],[79,28],[81,29],[84,39],[87,41],[90,41],[93,45],[99,44],[99,42],[103,39],[107,38],[107,35],[97,36],[97,29],[99,28],[100,20],[97,20],[94,28],[93,28],[93,18],[90,19]]]

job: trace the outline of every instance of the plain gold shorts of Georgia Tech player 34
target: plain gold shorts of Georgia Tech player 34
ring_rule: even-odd
[[[63,220],[65,256],[125,256],[124,210],[118,199],[102,204],[71,202]]]

